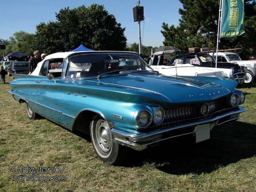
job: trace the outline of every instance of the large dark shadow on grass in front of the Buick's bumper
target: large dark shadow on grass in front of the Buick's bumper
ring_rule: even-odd
[[[256,125],[233,122],[215,127],[211,139],[177,138],[145,151],[133,151],[127,167],[155,164],[170,174],[210,173],[218,167],[256,155]],[[125,166],[125,165],[123,165]]]

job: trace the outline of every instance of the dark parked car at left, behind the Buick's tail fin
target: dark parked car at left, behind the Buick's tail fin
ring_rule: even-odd
[[[10,67],[7,68],[8,76],[13,74],[28,74],[28,61],[12,61]]]

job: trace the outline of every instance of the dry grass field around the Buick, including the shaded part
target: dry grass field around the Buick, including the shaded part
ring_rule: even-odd
[[[111,166],[97,158],[89,136],[47,119],[29,120],[25,104],[7,93],[10,81],[6,76],[7,84],[0,84],[0,191],[256,190],[255,84],[237,87],[246,93],[247,111],[238,121],[215,127],[210,140],[163,142]],[[44,180],[33,181],[32,175]]]

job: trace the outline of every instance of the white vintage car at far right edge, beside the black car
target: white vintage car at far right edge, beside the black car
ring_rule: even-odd
[[[216,52],[210,52],[210,55],[216,60]],[[256,78],[256,61],[242,60],[237,53],[233,52],[218,52],[218,62],[234,62],[241,67],[246,67],[246,75],[249,77],[244,83],[251,84]]]

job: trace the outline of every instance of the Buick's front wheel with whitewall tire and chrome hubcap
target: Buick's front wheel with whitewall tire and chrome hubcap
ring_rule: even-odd
[[[100,115],[94,116],[90,124],[90,135],[92,146],[100,160],[114,165],[124,158],[125,148],[115,141],[108,122]]]

